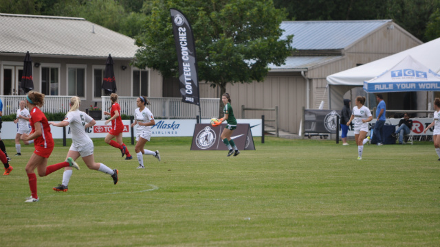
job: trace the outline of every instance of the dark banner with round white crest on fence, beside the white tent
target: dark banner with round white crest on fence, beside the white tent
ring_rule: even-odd
[[[336,110],[305,110],[304,130],[306,133],[336,133],[338,128]]]

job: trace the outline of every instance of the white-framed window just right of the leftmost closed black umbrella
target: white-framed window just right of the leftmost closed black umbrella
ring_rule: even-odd
[[[60,95],[61,64],[42,63],[38,69],[40,70],[41,93]]]

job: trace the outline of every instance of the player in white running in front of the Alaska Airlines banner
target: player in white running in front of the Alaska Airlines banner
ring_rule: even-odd
[[[148,102],[145,96],[140,96],[136,99],[136,105],[138,108],[135,109],[135,121],[131,124],[131,127],[134,127],[137,124],[137,143],[135,145],[137,161],[139,161],[137,169],[145,168],[144,157],[142,155],[153,155],[158,161],[160,161],[159,150],[153,152],[144,149],[145,143],[150,141],[151,138],[151,126],[155,125],[153,113],[151,113],[150,109],[146,108],[149,104],[150,102]]]

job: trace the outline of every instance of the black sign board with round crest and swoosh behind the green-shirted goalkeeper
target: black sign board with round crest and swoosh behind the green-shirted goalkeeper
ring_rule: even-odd
[[[211,124],[196,124],[191,150],[228,150],[220,138],[225,126],[226,124],[217,127],[212,127]],[[231,139],[239,150],[255,150],[249,124],[237,124]]]

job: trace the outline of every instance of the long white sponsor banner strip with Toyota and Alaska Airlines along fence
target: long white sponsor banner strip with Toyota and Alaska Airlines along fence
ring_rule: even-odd
[[[237,119],[240,124],[250,124],[252,135],[261,137],[261,119]],[[56,122],[56,121],[55,121]],[[194,119],[155,119],[155,126],[151,128],[152,137],[192,137],[196,125]],[[210,120],[202,120],[202,123],[208,124]],[[105,121],[96,121],[95,126],[85,130],[90,138],[104,138],[111,130],[111,124],[104,124]],[[124,130],[122,137],[131,137],[130,120],[122,120]],[[30,128],[30,126],[29,126]],[[50,126],[52,137],[54,139],[63,139],[63,128]],[[224,128],[224,127],[223,127]],[[1,139],[15,139],[18,124],[13,121],[4,121],[1,128]],[[136,136],[136,126],[133,128],[133,134]],[[66,138],[71,138],[70,127],[66,127]]]

